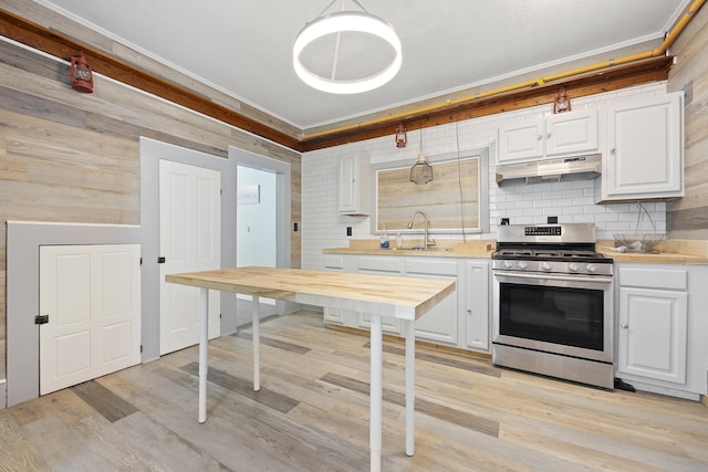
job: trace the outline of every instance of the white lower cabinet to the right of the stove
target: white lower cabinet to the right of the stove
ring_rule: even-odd
[[[641,390],[691,399],[706,394],[707,268],[616,269],[617,377]]]

